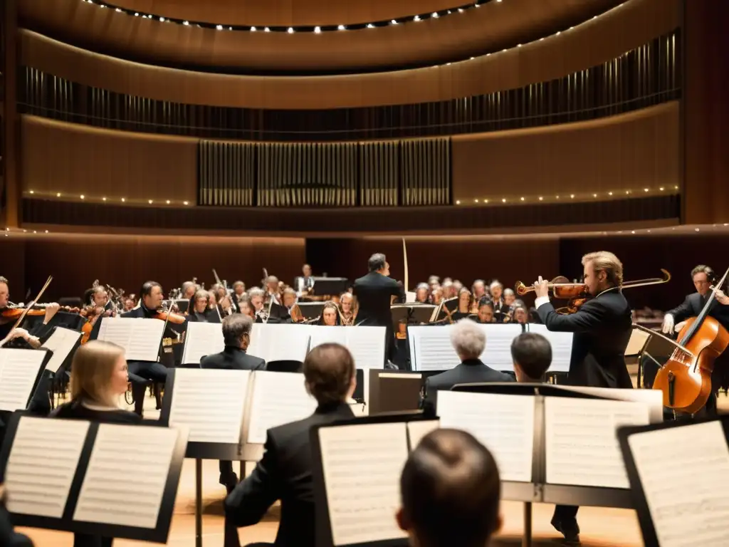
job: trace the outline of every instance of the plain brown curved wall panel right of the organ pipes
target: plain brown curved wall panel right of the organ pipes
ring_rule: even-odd
[[[617,199],[645,187],[677,193],[679,181],[676,101],[589,122],[453,136],[453,199],[463,203],[564,201],[569,193]]]

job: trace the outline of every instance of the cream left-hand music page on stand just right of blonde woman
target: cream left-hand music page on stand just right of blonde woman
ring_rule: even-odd
[[[176,369],[170,427],[189,427],[190,443],[238,444],[250,376],[251,371]]]

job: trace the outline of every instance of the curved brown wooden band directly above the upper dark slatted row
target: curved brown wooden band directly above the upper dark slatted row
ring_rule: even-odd
[[[87,6],[82,2],[77,4],[79,8]],[[496,5],[507,7],[509,4],[512,2]],[[451,66],[375,74],[254,77],[165,69],[98,55],[31,31],[20,33],[20,62],[72,82],[187,104],[261,109],[415,104],[521,88],[604,63],[677,28],[680,24],[677,5],[677,0],[631,0],[571,31],[505,53]],[[488,9],[488,5],[474,11],[484,9]],[[426,23],[429,22],[418,25]],[[479,27],[478,31],[483,34],[483,28]],[[255,34],[264,36],[263,33]],[[138,37],[138,33],[132,35]],[[296,35],[290,37],[293,36]],[[174,44],[178,44],[178,40],[179,36],[176,36]],[[368,40],[378,42],[371,35]],[[399,48],[390,42],[383,43],[387,55]],[[338,47],[329,47],[326,54],[333,56],[333,52],[338,51]],[[235,55],[251,57],[243,55],[240,49],[235,50]],[[257,54],[253,57],[258,58]],[[292,93],[292,89],[296,92]]]

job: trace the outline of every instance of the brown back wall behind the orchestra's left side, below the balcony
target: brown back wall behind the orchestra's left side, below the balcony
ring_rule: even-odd
[[[10,241],[8,241],[10,240]],[[11,254],[12,253],[12,254]],[[125,292],[139,294],[147,280],[162,284],[165,291],[197,277],[206,287],[214,283],[212,269],[233,284],[260,284],[262,268],[292,282],[305,262],[303,238],[149,238],[141,236],[56,236],[20,243],[0,238],[0,254],[15,257],[23,271],[6,270],[12,300],[23,301],[28,289],[37,291],[47,279],[53,282],[44,300],[81,296],[94,279]],[[289,279],[290,278],[290,279]]]

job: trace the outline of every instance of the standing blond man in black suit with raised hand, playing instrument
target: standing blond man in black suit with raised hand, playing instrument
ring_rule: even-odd
[[[573,386],[631,388],[625,366],[625,347],[631,337],[631,308],[625,300],[623,264],[612,252],[591,252],[582,257],[584,283],[593,297],[577,313],[560,315],[550,304],[548,282],[534,283],[534,306],[547,330],[574,333],[567,383]],[[552,525],[568,542],[579,542],[577,507],[558,505]]]

